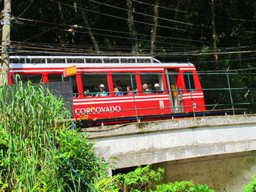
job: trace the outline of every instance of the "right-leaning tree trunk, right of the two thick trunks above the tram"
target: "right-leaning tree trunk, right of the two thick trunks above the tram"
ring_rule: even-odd
[[[154,25],[151,30],[151,53],[155,51],[155,40],[157,38],[159,0],[154,1]]]

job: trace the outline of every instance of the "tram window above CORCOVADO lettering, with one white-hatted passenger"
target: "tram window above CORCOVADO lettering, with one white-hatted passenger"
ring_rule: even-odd
[[[86,96],[96,96],[99,93],[99,85],[104,85],[104,91],[109,95],[109,88],[106,74],[82,74],[82,87]]]

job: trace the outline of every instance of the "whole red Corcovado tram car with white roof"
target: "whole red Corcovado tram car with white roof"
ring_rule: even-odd
[[[72,66],[76,74],[63,77],[63,71]],[[10,56],[10,84],[13,74],[20,74],[24,82],[71,81],[75,118],[205,111],[204,94],[192,63],[160,63],[153,57]]]

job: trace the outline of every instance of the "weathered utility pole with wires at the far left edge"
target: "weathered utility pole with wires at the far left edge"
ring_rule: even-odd
[[[10,43],[10,12],[11,0],[4,0],[4,10],[1,11],[4,18],[1,21],[3,25],[2,42],[1,42],[1,75],[0,86],[9,84],[9,60],[6,54],[7,47]]]

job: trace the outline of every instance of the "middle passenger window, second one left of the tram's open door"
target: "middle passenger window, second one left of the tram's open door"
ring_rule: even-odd
[[[131,79],[131,74],[112,74],[113,78],[113,85],[114,89],[118,88],[117,92],[115,95],[132,95],[131,93],[128,93],[129,91],[132,92],[132,90],[136,90],[137,87],[137,82],[136,82],[136,77],[135,74],[132,74],[132,79]],[[129,87],[129,90],[127,90],[127,87]]]

